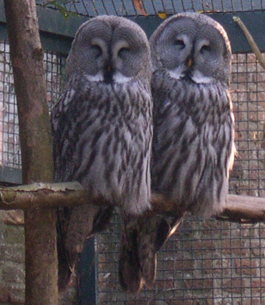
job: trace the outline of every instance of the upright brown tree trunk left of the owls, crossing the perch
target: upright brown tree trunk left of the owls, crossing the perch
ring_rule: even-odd
[[[4,0],[18,104],[23,184],[53,181],[43,51],[34,0]],[[55,209],[25,211],[26,304],[58,304]]]

